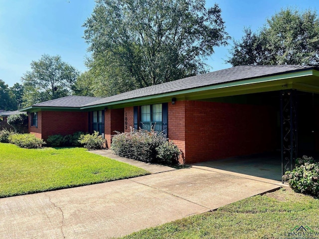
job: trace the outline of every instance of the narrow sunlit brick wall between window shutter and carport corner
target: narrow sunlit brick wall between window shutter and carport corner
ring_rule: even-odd
[[[175,105],[168,103],[168,138],[182,151],[180,162],[185,152],[185,101],[177,101]]]

